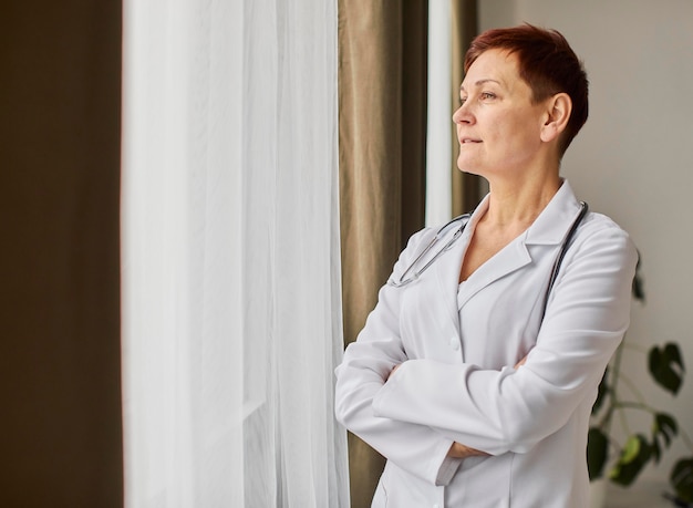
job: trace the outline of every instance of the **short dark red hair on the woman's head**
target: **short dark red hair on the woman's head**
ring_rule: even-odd
[[[568,41],[556,30],[531,24],[493,29],[477,35],[465,56],[465,73],[482,53],[506,50],[517,56],[520,77],[532,91],[535,102],[565,92],[572,101],[572,112],[560,145],[562,155],[578,134],[589,112],[587,73]]]

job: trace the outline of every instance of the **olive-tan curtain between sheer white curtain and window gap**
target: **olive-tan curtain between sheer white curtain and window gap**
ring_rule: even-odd
[[[339,1],[344,342],[355,340],[403,243],[424,224],[427,2]],[[353,507],[383,458],[350,435]]]

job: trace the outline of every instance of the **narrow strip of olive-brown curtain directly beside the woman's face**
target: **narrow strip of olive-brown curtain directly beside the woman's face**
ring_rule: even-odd
[[[459,105],[459,85],[464,79],[464,56],[472,39],[478,33],[477,0],[451,0],[452,28],[452,83],[453,112]],[[451,112],[451,116],[452,113]],[[455,125],[451,123],[453,137],[452,179],[453,179],[453,217],[474,209],[482,194],[482,178],[457,168],[459,143]]]

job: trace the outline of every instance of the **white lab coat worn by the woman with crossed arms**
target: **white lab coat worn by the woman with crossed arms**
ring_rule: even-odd
[[[612,220],[589,212],[541,321],[551,267],[580,205],[563,182],[535,222],[458,287],[487,204],[420,280],[380,290],[335,371],[338,419],[387,458],[373,507],[588,504],[589,416],[629,324],[635,248]],[[435,232],[412,236],[395,280]],[[454,440],[490,456],[447,458]]]

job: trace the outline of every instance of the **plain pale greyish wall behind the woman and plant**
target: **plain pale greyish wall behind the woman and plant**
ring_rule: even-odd
[[[480,29],[521,22],[559,30],[583,59],[590,118],[562,174],[581,199],[628,230],[642,255],[648,301],[634,304],[629,342],[669,340],[693,369],[693,2],[483,0]],[[693,437],[693,371],[676,398],[652,387],[644,356],[627,355],[652,404]],[[637,422],[638,418],[633,419]],[[635,427],[635,425],[633,425]],[[640,424],[649,433],[649,421]],[[666,477],[670,453],[647,476]],[[689,455],[690,452],[686,452]]]

